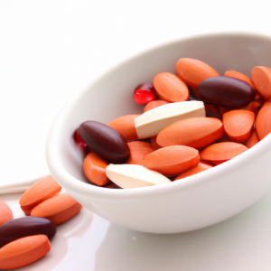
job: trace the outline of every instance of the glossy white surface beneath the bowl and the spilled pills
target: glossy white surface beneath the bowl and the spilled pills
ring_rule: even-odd
[[[2,195],[22,217],[21,194]],[[126,229],[83,208],[57,227],[47,256],[20,271],[269,271],[271,192],[238,216],[191,232],[157,235]]]

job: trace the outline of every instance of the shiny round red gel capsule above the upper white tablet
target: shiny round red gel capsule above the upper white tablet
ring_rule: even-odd
[[[146,104],[156,98],[156,91],[154,86],[149,83],[144,83],[135,88],[134,92],[135,102],[138,104]]]

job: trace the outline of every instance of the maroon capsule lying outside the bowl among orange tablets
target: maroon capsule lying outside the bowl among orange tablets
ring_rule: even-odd
[[[38,234],[45,234],[48,238],[52,238],[55,233],[55,225],[47,219],[24,217],[9,220],[0,226],[0,248],[19,238]]]

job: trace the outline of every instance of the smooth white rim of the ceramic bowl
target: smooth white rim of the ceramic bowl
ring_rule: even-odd
[[[220,164],[219,166],[214,166],[210,168],[208,171],[201,172],[199,174],[194,174],[192,176],[186,177],[182,179],[182,182],[168,182],[160,185],[153,185],[149,187],[141,187],[135,189],[105,189],[104,187],[99,187],[96,185],[91,185],[91,183],[81,182],[80,180],[76,179],[70,173],[68,173],[61,164],[61,160],[58,157],[58,142],[59,142],[59,131],[61,130],[61,120],[65,118],[65,115],[70,112],[70,107],[73,107],[74,104],[84,96],[86,92],[90,91],[93,85],[95,85],[99,80],[107,77],[107,74],[110,74],[114,70],[125,66],[127,63],[134,61],[135,59],[144,56],[145,54],[150,53],[151,51],[163,49],[169,45],[173,45],[179,42],[187,42],[193,41],[198,39],[206,39],[212,37],[242,37],[242,38],[257,38],[263,39],[271,42],[271,36],[266,34],[259,34],[259,33],[250,33],[250,32],[225,32],[225,33],[207,33],[207,34],[199,34],[193,35],[189,37],[184,37],[182,39],[173,40],[171,42],[165,42],[161,45],[154,46],[151,49],[139,52],[134,56],[126,59],[126,61],[122,61],[115,65],[114,67],[106,70],[104,73],[99,75],[96,79],[93,79],[88,88],[82,89],[79,93],[74,94],[71,96],[68,101],[61,107],[60,112],[55,117],[53,123],[51,124],[51,128],[49,134],[47,136],[46,141],[46,162],[49,167],[49,170],[53,177],[58,181],[61,180],[61,185],[65,188],[67,187],[68,190],[72,192],[79,193],[81,195],[95,198],[96,200],[132,200],[135,198],[142,198],[147,196],[151,196],[153,194],[161,194],[164,192],[169,191],[176,191],[180,189],[187,189],[191,188],[192,186],[198,185],[204,182],[210,182],[216,176],[220,176],[223,173],[227,173],[228,171],[232,171],[235,168],[240,167],[242,164],[248,163],[251,158],[257,157],[257,155],[261,154],[262,152],[266,151],[266,146],[271,147],[271,133],[266,135],[261,141],[257,143],[257,145],[248,149],[245,153],[239,154],[238,156],[230,159],[228,162]],[[65,180],[63,182],[63,180]],[[63,184],[62,184],[63,183]],[[90,185],[89,185],[90,184]]]

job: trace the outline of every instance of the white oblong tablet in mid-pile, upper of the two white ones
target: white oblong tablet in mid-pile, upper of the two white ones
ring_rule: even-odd
[[[138,138],[158,135],[166,126],[190,117],[205,117],[202,101],[182,101],[155,107],[135,117],[135,131]]]

